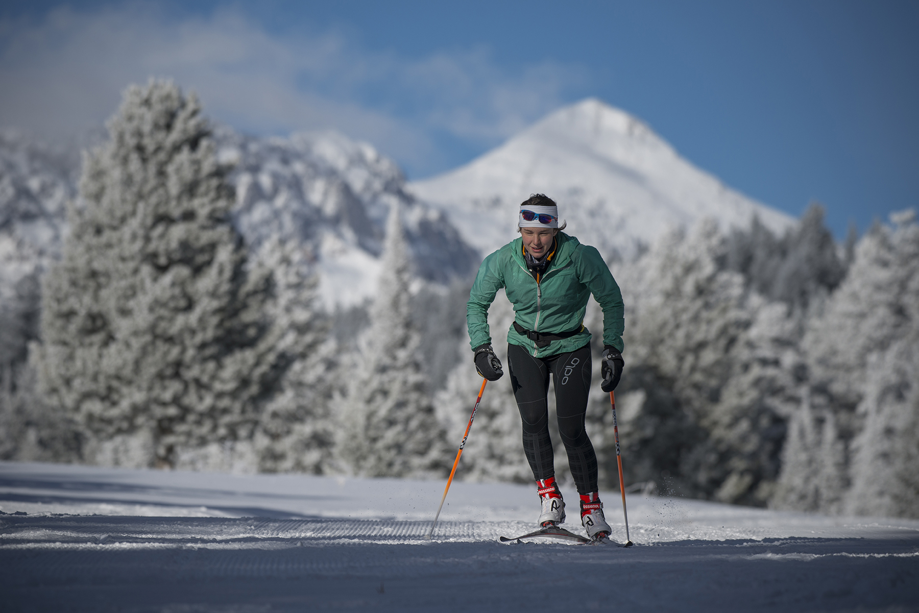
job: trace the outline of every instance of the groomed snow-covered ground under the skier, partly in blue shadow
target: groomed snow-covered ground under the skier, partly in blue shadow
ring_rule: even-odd
[[[919,610],[919,521],[630,495],[630,549],[502,544],[533,488],[455,482],[426,540],[443,486],[0,462],[0,608]]]

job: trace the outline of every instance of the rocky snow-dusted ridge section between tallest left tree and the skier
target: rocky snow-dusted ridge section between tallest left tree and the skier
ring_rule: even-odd
[[[408,194],[399,166],[369,143],[335,131],[266,139],[226,130],[217,141],[233,163],[233,217],[246,242],[257,249],[278,237],[308,249],[331,310],[375,294],[392,206],[419,278],[448,283],[478,264],[446,215]]]

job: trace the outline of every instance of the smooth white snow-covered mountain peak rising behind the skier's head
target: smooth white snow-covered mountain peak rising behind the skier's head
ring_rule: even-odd
[[[710,217],[781,231],[786,214],[725,187],[640,119],[596,98],[561,108],[471,163],[410,184],[463,238],[490,253],[515,236],[516,207],[533,193],[559,202],[568,231],[607,257],[630,256],[669,227]]]

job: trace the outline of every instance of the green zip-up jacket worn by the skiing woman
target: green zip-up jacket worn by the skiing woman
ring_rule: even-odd
[[[485,258],[466,303],[466,323],[473,349],[492,342],[488,307],[498,289],[504,288],[507,299],[514,305],[516,323],[525,330],[543,334],[560,334],[582,324],[587,299],[594,294],[603,308],[603,344],[622,351],[625,321],[622,293],[616,279],[596,248],[581,244],[562,232],[556,234],[556,241],[555,256],[539,284],[523,258],[523,238],[505,244]],[[507,332],[508,343],[527,347],[529,353],[538,358],[578,349],[586,345],[590,337],[584,327],[576,335],[537,347],[527,336],[517,333],[514,326]]]

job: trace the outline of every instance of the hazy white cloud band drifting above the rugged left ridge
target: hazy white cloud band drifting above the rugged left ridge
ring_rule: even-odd
[[[584,74],[554,63],[510,74],[481,48],[407,58],[332,32],[272,36],[233,10],[176,19],[146,4],[62,8],[0,25],[0,124],[85,130],[150,76],[198,92],[239,130],[335,128],[425,172],[444,159],[438,135],[494,145],[560,106]]]

